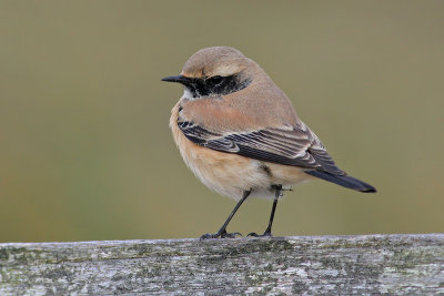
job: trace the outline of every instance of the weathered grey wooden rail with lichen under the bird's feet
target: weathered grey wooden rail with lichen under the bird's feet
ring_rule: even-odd
[[[444,234],[0,244],[0,295],[444,294]]]

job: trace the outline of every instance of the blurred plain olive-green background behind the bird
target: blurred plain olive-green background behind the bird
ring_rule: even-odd
[[[291,98],[340,166],[278,205],[274,235],[444,231],[443,1],[1,1],[0,242],[198,237],[234,201],[173,143],[161,78],[231,45]],[[229,231],[263,232],[251,200]]]

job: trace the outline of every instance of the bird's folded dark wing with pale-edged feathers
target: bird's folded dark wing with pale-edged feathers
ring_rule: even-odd
[[[190,141],[208,149],[333,175],[345,174],[336,166],[317,136],[303,123],[251,132],[210,131],[181,120],[178,125]]]

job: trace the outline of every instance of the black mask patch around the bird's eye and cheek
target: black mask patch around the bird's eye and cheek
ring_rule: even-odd
[[[191,79],[186,84],[186,90],[193,98],[209,95],[225,95],[245,89],[251,83],[251,79],[241,79],[241,75],[212,76],[203,79]]]

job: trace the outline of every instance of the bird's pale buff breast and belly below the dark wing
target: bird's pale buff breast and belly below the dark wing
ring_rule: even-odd
[[[179,151],[194,175],[216,193],[240,200],[245,191],[252,190],[251,196],[274,198],[272,185],[290,187],[312,178],[295,166],[261,162],[194,144],[179,129],[176,106],[174,109],[170,126]]]

